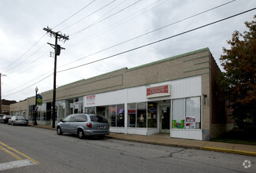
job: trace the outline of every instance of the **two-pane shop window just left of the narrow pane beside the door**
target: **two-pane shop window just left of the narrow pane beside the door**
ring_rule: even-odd
[[[128,127],[147,127],[147,102],[128,104]]]

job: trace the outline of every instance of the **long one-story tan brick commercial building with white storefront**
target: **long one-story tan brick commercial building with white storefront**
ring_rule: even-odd
[[[210,140],[233,127],[215,78],[221,71],[209,48],[57,88],[56,123],[72,113],[97,113],[114,133]],[[50,125],[52,90],[43,92],[37,123]],[[10,105],[32,122],[35,97]]]

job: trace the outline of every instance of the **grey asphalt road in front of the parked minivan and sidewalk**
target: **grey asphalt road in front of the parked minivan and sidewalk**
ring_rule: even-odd
[[[0,171],[256,172],[256,157],[0,124]]]

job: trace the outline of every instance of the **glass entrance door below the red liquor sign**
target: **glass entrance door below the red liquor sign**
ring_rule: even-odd
[[[170,106],[161,106],[160,132],[170,133]]]

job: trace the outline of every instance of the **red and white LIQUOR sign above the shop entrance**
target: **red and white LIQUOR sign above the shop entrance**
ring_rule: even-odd
[[[161,97],[170,95],[169,85],[147,88],[147,98]]]

